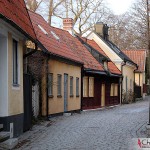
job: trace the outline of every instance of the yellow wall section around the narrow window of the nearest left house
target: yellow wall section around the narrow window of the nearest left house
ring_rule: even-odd
[[[19,40],[19,39],[18,39]],[[23,42],[18,41],[19,87],[13,87],[12,34],[8,33],[8,114],[23,113]]]

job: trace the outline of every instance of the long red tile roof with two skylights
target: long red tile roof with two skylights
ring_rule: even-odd
[[[33,12],[29,12],[29,14],[38,40],[49,52],[68,59],[84,62],[84,67],[87,69],[104,71],[102,66],[77,38],[65,30],[49,26],[40,15]],[[38,25],[41,25],[48,35],[45,35]],[[55,39],[51,31],[59,37],[59,40]]]

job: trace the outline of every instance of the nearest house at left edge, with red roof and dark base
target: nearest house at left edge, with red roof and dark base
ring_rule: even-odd
[[[35,34],[24,1],[0,1],[0,124],[11,137],[23,132],[23,48],[28,38],[34,40]]]

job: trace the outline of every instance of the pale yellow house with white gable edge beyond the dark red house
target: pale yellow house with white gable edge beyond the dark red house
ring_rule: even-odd
[[[90,32],[87,38],[94,40],[121,71],[123,75],[121,92],[134,91],[134,71],[137,69],[137,64],[108,39],[108,26],[97,23],[95,31]]]

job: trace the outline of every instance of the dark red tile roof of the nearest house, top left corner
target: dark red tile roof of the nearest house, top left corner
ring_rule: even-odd
[[[0,18],[15,24],[23,34],[36,39],[24,0],[0,0]]]

